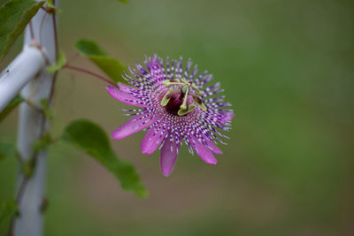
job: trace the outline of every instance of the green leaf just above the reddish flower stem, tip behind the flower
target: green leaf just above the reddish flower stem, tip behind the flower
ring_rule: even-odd
[[[124,81],[121,73],[127,70],[126,66],[119,60],[109,57],[96,42],[81,39],[75,43],[75,48],[79,50],[82,56],[88,57],[89,60],[97,65],[112,81]]]

